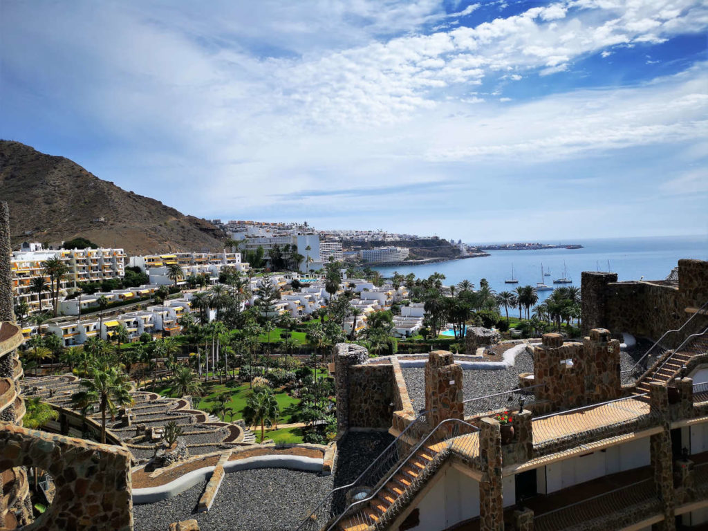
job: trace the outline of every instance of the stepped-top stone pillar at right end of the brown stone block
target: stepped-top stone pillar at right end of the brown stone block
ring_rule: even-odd
[[[583,339],[583,379],[586,398],[600,402],[622,396],[619,341],[607,329],[592,329]]]

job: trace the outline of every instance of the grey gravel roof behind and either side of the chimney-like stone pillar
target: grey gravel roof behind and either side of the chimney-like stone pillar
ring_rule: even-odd
[[[402,369],[408,394],[413,401],[413,409],[419,411],[426,406],[426,370],[420,368]],[[518,387],[520,372],[533,372],[533,358],[529,353],[522,353],[516,357],[513,367],[501,370],[464,370],[462,371],[462,388],[464,399],[471,399],[486,394],[501,393]],[[505,394],[493,396],[488,399],[477,400],[464,404],[464,414],[484,413],[493,409],[505,407],[518,407],[518,394]],[[531,394],[526,394],[525,400],[532,399]]]

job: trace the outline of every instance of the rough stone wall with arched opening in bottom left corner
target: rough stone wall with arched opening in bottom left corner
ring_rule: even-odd
[[[52,505],[25,530],[132,530],[127,450],[11,424],[0,426],[0,447],[0,469],[38,467],[55,481]]]

